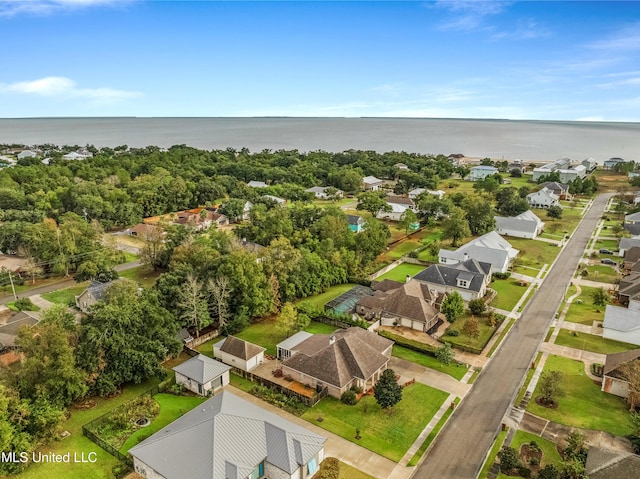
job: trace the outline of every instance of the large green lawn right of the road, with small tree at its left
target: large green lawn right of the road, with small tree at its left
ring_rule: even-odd
[[[540,395],[538,383],[527,411],[571,427],[600,430],[616,436],[631,433],[624,399],[602,392],[586,375],[581,361],[553,355],[547,358],[544,369],[563,373],[561,384],[565,394],[559,398],[557,409],[539,406],[534,401]]]

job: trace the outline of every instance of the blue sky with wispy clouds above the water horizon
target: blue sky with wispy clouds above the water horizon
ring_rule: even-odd
[[[0,117],[640,121],[640,2],[0,0]]]

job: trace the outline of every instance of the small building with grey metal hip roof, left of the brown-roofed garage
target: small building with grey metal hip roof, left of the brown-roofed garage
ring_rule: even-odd
[[[207,396],[229,384],[231,366],[198,354],[173,368],[176,384],[182,384],[189,391]]]

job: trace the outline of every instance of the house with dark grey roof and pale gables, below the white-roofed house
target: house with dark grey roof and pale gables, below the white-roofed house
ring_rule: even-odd
[[[490,263],[467,259],[453,266],[433,264],[420,271],[413,279],[426,284],[429,291],[438,294],[457,291],[462,299],[471,301],[484,297],[492,272]]]

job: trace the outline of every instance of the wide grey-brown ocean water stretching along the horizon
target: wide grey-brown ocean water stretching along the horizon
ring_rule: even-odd
[[[640,123],[412,118],[0,119],[0,143],[348,149],[553,161],[640,161]]]

